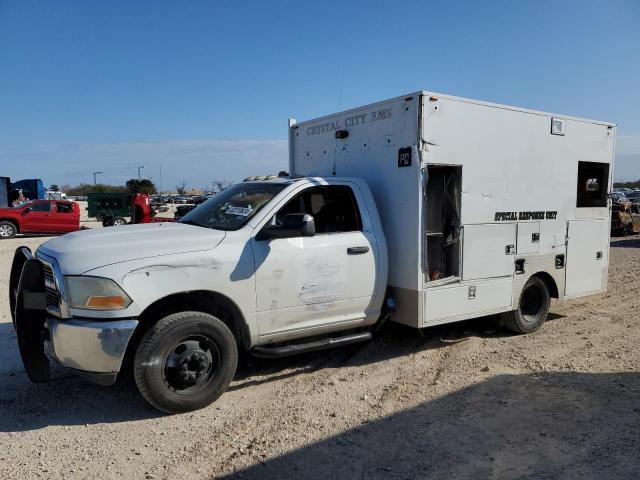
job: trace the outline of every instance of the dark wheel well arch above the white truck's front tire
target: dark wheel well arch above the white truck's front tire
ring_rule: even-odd
[[[144,333],[161,318],[184,311],[214,315],[229,327],[239,347],[248,347],[251,343],[244,316],[229,297],[216,292],[197,290],[169,295],[149,305],[138,317],[140,325],[132,339],[135,340],[133,344],[137,345]]]

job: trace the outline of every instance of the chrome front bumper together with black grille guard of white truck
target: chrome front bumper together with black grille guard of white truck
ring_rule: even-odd
[[[34,383],[49,380],[49,357],[94,382],[116,379],[127,345],[138,326],[133,318],[99,321],[49,314],[43,263],[25,247],[16,251],[9,295],[22,363]]]

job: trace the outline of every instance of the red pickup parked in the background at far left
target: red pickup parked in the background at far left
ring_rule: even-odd
[[[80,206],[65,200],[34,200],[0,208],[0,239],[16,233],[68,233],[80,230]]]

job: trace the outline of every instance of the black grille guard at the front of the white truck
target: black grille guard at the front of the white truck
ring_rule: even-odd
[[[18,348],[29,380],[49,381],[49,359],[44,353],[46,300],[42,263],[26,247],[16,250],[9,279],[9,303]]]

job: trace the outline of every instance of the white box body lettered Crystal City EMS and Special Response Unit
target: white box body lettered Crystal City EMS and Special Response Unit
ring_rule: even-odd
[[[396,321],[511,310],[532,275],[606,290],[612,124],[421,91],[292,122],[289,143],[292,175],[369,184]]]

